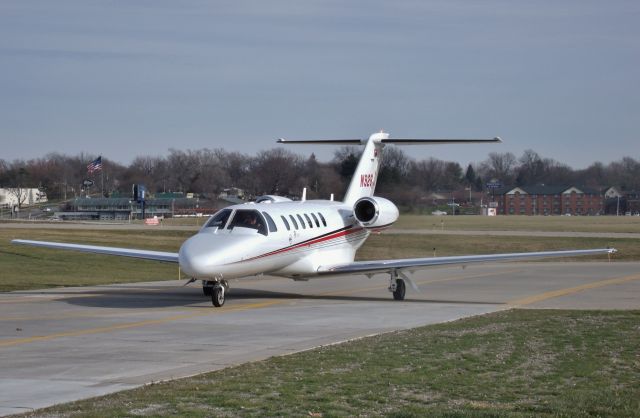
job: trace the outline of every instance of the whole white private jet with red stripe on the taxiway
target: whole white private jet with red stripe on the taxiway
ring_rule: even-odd
[[[202,280],[203,292],[211,296],[216,307],[224,304],[229,280],[261,274],[309,280],[345,274],[372,277],[383,273],[389,275],[393,298],[403,300],[405,282],[418,290],[406,272],[432,266],[615,252],[605,248],[354,261],[356,251],[372,232],[388,228],[398,219],[398,208],[391,201],[373,195],[386,144],[478,144],[501,142],[500,138],[393,139],[388,133],[380,132],[368,140],[279,139],[278,142],[364,145],[344,200],[306,200],[303,192],[300,201],[262,196],[255,202],[229,206],[211,216],[196,235],[182,244],[178,253],[20,239],[12,242],[178,263],[181,271],[192,278],[190,281]]]

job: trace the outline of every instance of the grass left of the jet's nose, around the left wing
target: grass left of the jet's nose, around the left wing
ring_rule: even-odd
[[[0,229],[0,291],[170,280],[175,264],[12,245],[36,239],[177,251],[191,232]]]

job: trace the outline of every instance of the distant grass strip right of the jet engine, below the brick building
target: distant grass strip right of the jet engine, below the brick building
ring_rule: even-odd
[[[394,228],[470,231],[635,232],[638,216],[432,216],[402,214]]]

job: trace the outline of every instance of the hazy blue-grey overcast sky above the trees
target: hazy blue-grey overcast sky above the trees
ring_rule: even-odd
[[[384,129],[505,141],[415,158],[534,149],[582,168],[640,158],[639,64],[638,1],[3,0],[0,158]],[[291,150],[333,155],[311,147]]]

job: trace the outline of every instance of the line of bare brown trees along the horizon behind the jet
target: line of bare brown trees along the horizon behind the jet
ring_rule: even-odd
[[[133,184],[144,184],[151,193],[194,192],[217,196],[230,187],[249,196],[279,194],[299,196],[304,187],[308,198],[340,199],[356,168],[359,147],[342,147],[331,161],[318,161],[283,148],[255,155],[224,149],[177,150],[166,156],[138,156],[123,165],[103,156],[102,172],[89,176],[87,164],[95,155],[48,154],[31,160],[7,162],[0,159],[0,187],[33,187],[49,199],[70,199],[104,192],[128,194]],[[552,158],[526,150],[519,158],[510,152],[492,152],[483,161],[462,167],[455,161],[436,158],[416,160],[402,149],[387,146],[383,152],[377,194],[398,204],[413,206],[430,192],[485,190],[489,182],[504,186],[580,185],[594,189],[617,186],[640,190],[640,161],[624,157],[609,164],[594,162],[585,169],[573,169]],[[94,185],[83,190],[83,181]],[[104,186],[102,187],[102,183]]]

